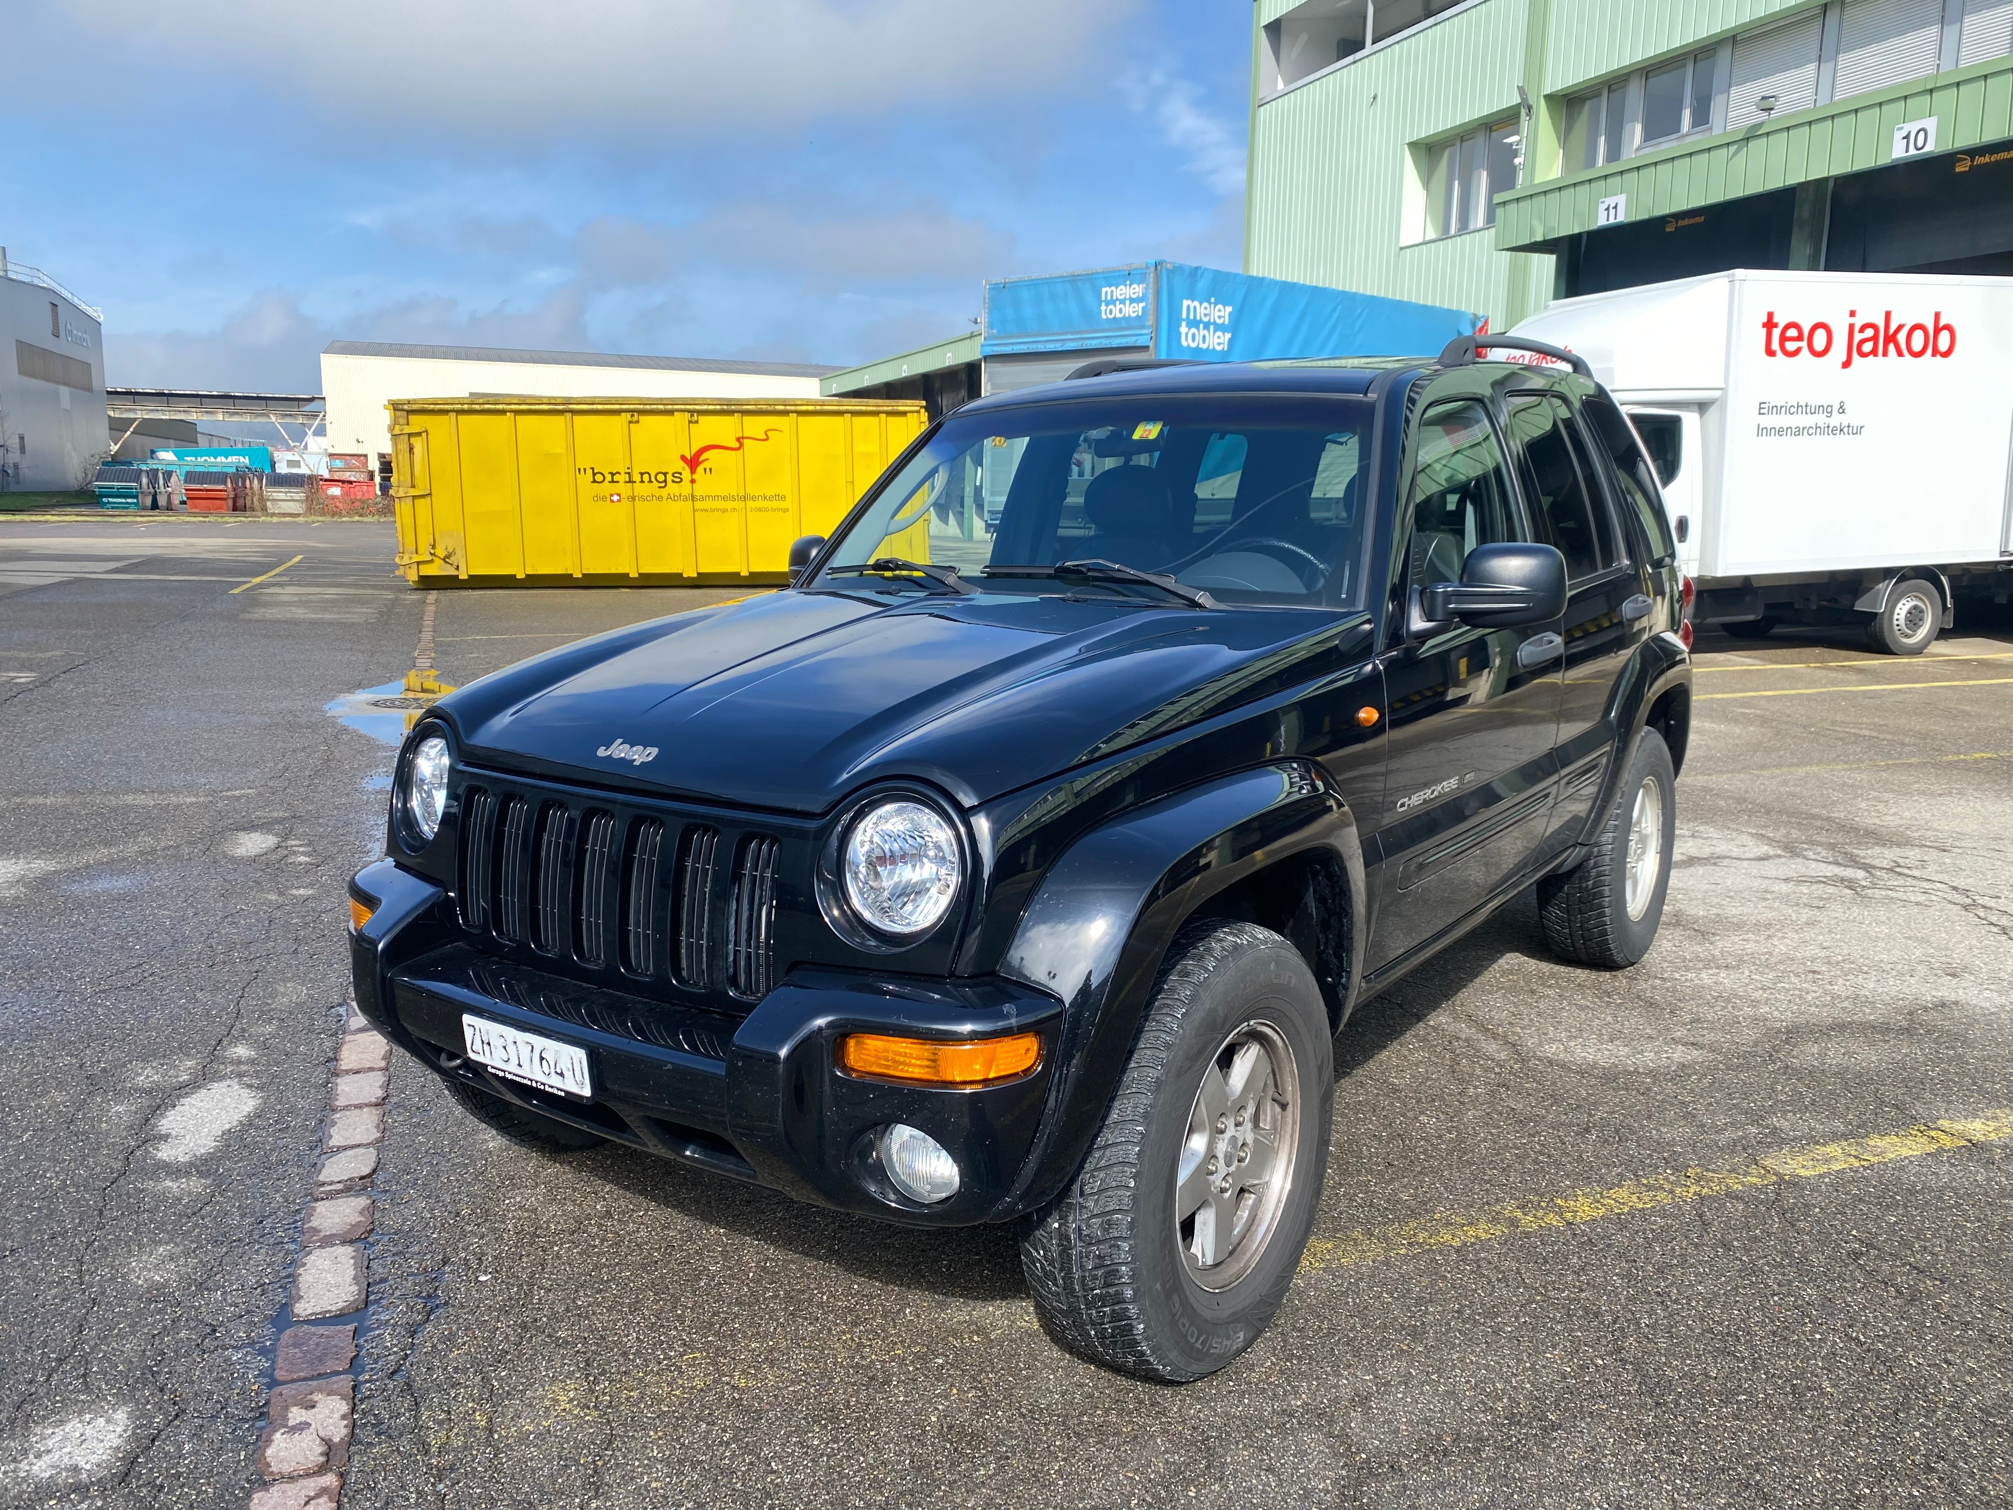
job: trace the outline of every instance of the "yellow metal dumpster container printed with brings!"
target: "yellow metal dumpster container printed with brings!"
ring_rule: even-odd
[[[918,403],[845,399],[386,409],[399,568],[429,588],[785,582],[789,542],[831,534],[926,425]]]

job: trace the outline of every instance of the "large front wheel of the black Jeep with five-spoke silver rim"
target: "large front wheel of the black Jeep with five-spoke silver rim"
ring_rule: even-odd
[[[1049,1333],[1166,1383],[1258,1341],[1314,1224],[1333,1109],[1329,1011],[1300,952],[1248,922],[1184,930],[1083,1170],[1023,1230]]]

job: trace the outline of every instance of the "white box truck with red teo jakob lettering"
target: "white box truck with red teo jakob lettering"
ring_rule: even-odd
[[[1663,479],[1697,622],[1920,654],[2013,588],[2013,280],[1721,272],[1558,300]],[[1504,352],[1518,360],[1544,360]]]

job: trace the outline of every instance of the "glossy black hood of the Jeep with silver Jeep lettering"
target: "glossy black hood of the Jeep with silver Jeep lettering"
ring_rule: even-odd
[[[439,711],[467,759],[560,779],[817,813],[908,777],[978,805],[1361,660],[1365,624],[775,592],[521,662]]]

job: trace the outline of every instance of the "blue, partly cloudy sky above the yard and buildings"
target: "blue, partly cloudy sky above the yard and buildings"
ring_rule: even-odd
[[[330,340],[854,364],[1236,268],[1250,0],[8,0],[0,246],[115,387]],[[44,66],[22,66],[40,58]]]

